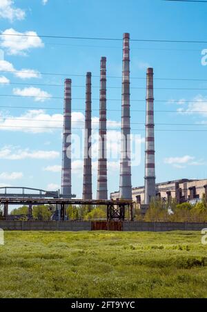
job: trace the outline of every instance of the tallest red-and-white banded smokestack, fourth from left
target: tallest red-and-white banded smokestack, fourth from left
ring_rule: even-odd
[[[123,36],[123,71],[121,99],[121,163],[119,198],[132,199],[130,164],[130,34]]]

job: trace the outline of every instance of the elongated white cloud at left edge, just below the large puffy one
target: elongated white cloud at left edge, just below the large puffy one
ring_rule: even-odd
[[[23,70],[16,70],[12,63],[0,60],[0,71],[5,72],[12,72],[14,76],[17,76],[21,79],[29,79],[29,78],[40,78],[41,75],[37,70],[29,70],[29,69],[23,69]]]

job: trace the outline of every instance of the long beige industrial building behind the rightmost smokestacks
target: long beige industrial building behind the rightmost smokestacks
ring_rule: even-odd
[[[201,199],[204,194],[207,198],[207,179],[204,180],[172,180],[168,182],[156,183],[156,196],[162,200],[170,200],[176,198],[177,203],[196,202]],[[144,204],[145,202],[145,187],[132,187],[132,200],[137,204]],[[119,191],[110,194],[110,198],[115,200],[119,198]]]

